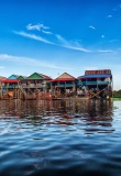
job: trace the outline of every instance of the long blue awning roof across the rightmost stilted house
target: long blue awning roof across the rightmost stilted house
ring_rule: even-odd
[[[86,78],[107,78],[107,77],[112,77],[111,74],[103,74],[103,75],[84,75],[79,76],[78,79],[86,79]]]

